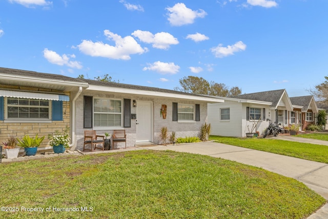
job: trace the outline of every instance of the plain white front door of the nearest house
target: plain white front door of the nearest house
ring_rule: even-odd
[[[152,141],[152,103],[137,102],[136,119],[137,142]]]

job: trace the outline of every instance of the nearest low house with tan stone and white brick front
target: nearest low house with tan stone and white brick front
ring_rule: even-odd
[[[223,99],[179,91],[0,68],[0,142],[8,135],[45,135],[70,126],[71,150],[85,130],[125,129],[127,146],[159,143],[161,127],[176,137],[196,136],[207,104]],[[160,113],[166,109],[166,118]],[[124,143],[118,143],[122,147]]]

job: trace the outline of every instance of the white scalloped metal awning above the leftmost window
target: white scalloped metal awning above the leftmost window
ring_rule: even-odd
[[[64,94],[35,93],[13,90],[0,90],[0,96],[29,99],[48,99],[50,101],[70,101],[70,97]]]

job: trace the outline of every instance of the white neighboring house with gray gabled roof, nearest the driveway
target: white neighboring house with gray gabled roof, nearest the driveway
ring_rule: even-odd
[[[262,134],[270,121],[288,125],[293,111],[285,89],[220,98],[224,103],[208,104],[213,135],[244,137],[257,122],[253,132]]]

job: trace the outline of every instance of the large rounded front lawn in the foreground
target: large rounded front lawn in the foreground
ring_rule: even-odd
[[[292,178],[173,151],[7,163],[0,175],[0,202],[17,210],[0,218],[305,218],[325,203]]]

